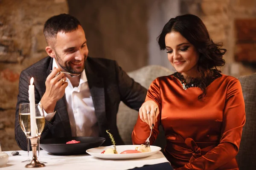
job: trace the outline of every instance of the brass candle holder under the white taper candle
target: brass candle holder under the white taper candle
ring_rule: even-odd
[[[38,136],[35,136],[35,137],[32,137],[32,136],[29,136],[28,137],[31,141],[31,147],[32,147],[32,153],[33,153],[33,158],[32,158],[32,161],[29,163],[29,164],[26,164],[25,167],[28,167],[28,168],[33,168],[33,167],[45,167],[44,164],[40,163],[37,159],[37,156],[36,156],[36,148],[38,146],[37,144],[37,141],[38,141]]]

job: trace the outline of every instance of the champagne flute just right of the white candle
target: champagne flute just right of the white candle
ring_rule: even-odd
[[[44,125],[45,125],[45,119],[44,119],[44,109],[43,105],[35,105],[35,122],[36,122],[36,127],[37,127],[37,136],[38,136],[38,160],[40,160],[40,137],[41,133],[44,130]],[[47,162],[42,162],[42,163],[47,163]]]

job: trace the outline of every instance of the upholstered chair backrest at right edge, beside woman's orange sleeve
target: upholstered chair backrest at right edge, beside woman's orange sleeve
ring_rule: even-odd
[[[256,73],[239,77],[239,81],[244,96],[246,121],[236,159],[239,170],[254,170],[256,169]]]

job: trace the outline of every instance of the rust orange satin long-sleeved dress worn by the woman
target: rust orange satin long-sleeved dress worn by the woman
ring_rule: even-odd
[[[184,90],[178,73],[158,77],[148,89],[145,101],[157,103],[160,114],[152,131],[153,144],[163,125],[164,155],[176,170],[238,170],[245,107],[238,79],[218,73],[207,86],[207,96],[198,100],[201,89],[190,84]],[[176,75],[176,76],[175,76]],[[138,116],[133,144],[145,144],[149,126]]]

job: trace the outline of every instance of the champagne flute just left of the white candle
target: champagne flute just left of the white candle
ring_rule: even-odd
[[[27,150],[28,150],[28,158],[22,162],[31,162],[29,158],[29,134],[30,134],[30,108],[29,103],[20,104],[19,108],[19,122],[22,131],[26,135],[26,143],[27,143]]]

